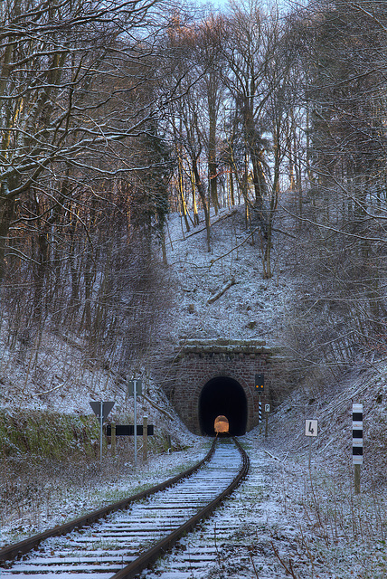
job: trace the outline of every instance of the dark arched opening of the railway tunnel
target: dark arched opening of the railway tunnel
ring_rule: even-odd
[[[217,376],[204,384],[199,398],[199,423],[201,432],[214,436],[213,422],[224,414],[230,423],[230,435],[246,432],[247,399],[241,384],[227,376]]]

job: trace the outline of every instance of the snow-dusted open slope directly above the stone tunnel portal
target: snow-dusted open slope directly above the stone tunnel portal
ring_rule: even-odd
[[[263,279],[260,237],[257,232],[251,236],[251,229],[254,223],[246,227],[243,206],[212,214],[208,252],[203,223],[187,233],[179,215],[170,218],[166,250],[177,279],[177,298],[175,327],[168,326],[168,339],[266,339],[280,345],[297,280],[286,272],[284,239],[276,236],[274,277]],[[230,289],[208,303],[231,280],[235,283]]]

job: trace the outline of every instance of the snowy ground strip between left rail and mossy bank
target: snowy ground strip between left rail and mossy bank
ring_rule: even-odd
[[[46,500],[38,504],[30,501],[29,508],[8,512],[3,511],[0,525],[0,546],[23,540],[27,536],[41,533],[46,528],[56,527],[71,521],[82,514],[102,508],[112,502],[156,486],[165,479],[175,476],[203,459],[210,447],[210,441],[201,437],[187,436],[191,446],[184,451],[170,451],[151,456],[146,464],[141,460],[139,444],[139,463],[133,464],[133,451],[124,446],[113,458],[105,456],[102,463],[97,460],[93,465],[85,463],[83,470],[90,469],[90,476],[78,481],[79,472],[74,465],[73,480],[62,475],[59,480],[61,489],[45,485]],[[91,468],[90,468],[91,467]],[[71,473],[70,473],[71,476]],[[1,570],[0,570],[1,576]]]

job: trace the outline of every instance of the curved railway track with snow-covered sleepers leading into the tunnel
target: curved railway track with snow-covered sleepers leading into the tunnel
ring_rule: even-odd
[[[1,549],[2,579],[131,579],[209,517],[248,470],[238,441],[214,441],[203,460],[174,479]]]

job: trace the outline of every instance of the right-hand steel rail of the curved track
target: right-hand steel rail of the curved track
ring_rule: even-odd
[[[215,439],[216,440],[216,439]],[[204,518],[209,517],[212,514],[214,508],[218,507],[222,500],[231,494],[232,490],[236,489],[241,481],[247,476],[250,468],[249,457],[241,447],[241,444],[236,439],[233,439],[237,445],[239,451],[241,452],[242,465],[241,469],[237,473],[236,477],[231,481],[231,484],[224,489],[218,497],[214,498],[206,507],[202,508],[196,515],[191,517],[186,521],[181,527],[178,527],[170,533],[165,538],[161,539],[155,546],[148,549],[143,555],[140,555],[132,561],[129,565],[118,571],[118,573],[112,575],[110,579],[133,579],[137,574],[146,569],[146,567],[153,565],[156,560],[165,555],[172,547],[177,543],[179,539],[182,538],[186,533],[193,530],[193,527],[202,521]]]

